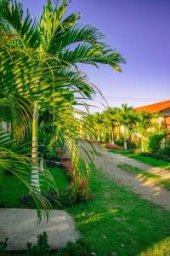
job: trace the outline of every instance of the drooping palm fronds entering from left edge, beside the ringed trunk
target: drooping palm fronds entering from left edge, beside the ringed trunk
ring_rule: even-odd
[[[11,49],[8,45],[13,44],[7,34],[0,37],[0,120],[12,124],[12,130],[0,131],[0,175],[8,170],[20,178],[28,189],[31,189],[31,196],[37,205],[38,218],[41,220],[42,212],[40,208],[46,209],[45,213],[48,218],[47,209],[50,207],[48,201],[34,188],[30,186],[30,177],[28,176],[31,168],[31,160],[23,152],[29,152],[26,145],[20,145],[20,137],[23,136],[25,126],[31,119],[30,100],[26,96],[31,93],[26,90],[27,84],[37,80],[40,73],[31,73],[37,67],[37,61],[29,60],[26,55],[20,55],[20,51]],[[11,61],[12,60],[12,61]],[[25,76],[20,74],[25,73]],[[23,84],[25,86],[23,86]],[[34,86],[35,89],[36,85]],[[30,88],[30,86],[29,86]],[[31,93],[32,97],[36,96]],[[3,127],[2,127],[3,128]],[[25,148],[23,149],[22,146]],[[49,172],[41,174],[45,177],[47,183],[53,184],[54,181]],[[43,178],[44,179],[44,178]]]

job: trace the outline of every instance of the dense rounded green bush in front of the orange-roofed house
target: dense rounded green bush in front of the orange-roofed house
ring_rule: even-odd
[[[165,131],[151,134],[148,142],[148,149],[151,153],[156,153],[161,149],[161,141],[167,136]]]

